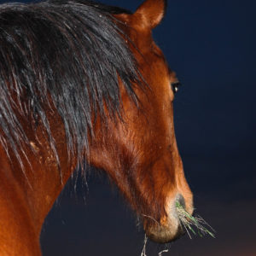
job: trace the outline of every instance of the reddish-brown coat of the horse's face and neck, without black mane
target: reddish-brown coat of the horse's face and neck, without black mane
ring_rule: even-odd
[[[134,84],[142,106],[137,108],[120,83],[122,120],[109,119],[105,124],[97,118],[89,150],[84,152],[90,165],[102,168],[117,183],[143,219],[148,236],[161,242],[177,236],[177,224],[172,222],[178,220],[171,216],[175,213],[172,206],[169,208],[177,195],[183,195],[187,211],[193,212],[192,194],[183,175],[173,126],[174,95],[170,84],[177,78],[151,35],[164,12],[164,0],[147,0],[133,15],[114,15],[122,21],[119,26],[129,38],[124,39],[137,59],[148,89],[143,91]],[[24,148],[29,160],[22,156],[24,168],[11,151],[8,156],[0,147],[1,255],[40,255],[39,236],[44,218],[77,165],[75,157],[68,157],[64,126],[55,108],[49,108],[47,116],[59,165],[40,123],[35,131],[20,118],[34,148],[34,152]]]

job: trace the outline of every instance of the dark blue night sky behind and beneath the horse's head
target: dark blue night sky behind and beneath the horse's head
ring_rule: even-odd
[[[137,9],[142,1],[102,3]],[[196,212],[216,238],[183,236],[163,256],[256,255],[256,1],[169,0],[155,42],[183,84],[177,143]],[[102,172],[61,194],[46,219],[45,256],[139,256],[143,230]],[[164,249],[148,242],[147,255]]]

